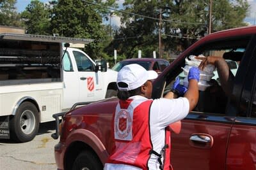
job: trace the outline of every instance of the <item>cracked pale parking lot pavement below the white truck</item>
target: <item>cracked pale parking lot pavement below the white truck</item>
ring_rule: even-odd
[[[40,124],[36,137],[27,143],[0,139],[1,169],[57,169],[54,160],[54,145],[58,143],[58,140],[51,138],[54,123]]]

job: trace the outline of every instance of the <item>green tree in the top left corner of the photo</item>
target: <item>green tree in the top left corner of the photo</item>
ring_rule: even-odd
[[[19,13],[15,8],[16,0],[0,1],[0,25],[20,26]]]

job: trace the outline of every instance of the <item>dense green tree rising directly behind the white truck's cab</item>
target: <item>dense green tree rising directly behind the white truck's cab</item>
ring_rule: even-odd
[[[102,13],[106,12],[106,9],[81,0],[51,1],[51,5],[52,33],[74,38],[92,38],[93,43],[86,45],[84,50],[93,59],[104,57],[102,48],[108,38],[108,32],[102,24]]]

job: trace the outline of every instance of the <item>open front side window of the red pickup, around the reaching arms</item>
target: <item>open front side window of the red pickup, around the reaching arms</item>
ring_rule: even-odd
[[[232,39],[230,40],[230,43],[229,41],[216,41],[204,46],[198,46],[198,48],[193,50],[193,52],[191,52],[189,55],[197,56],[202,54],[206,57],[211,55],[216,57],[223,57],[226,61],[228,60],[228,66],[230,66],[230,70],[234,75],[236,75],[236,71],[238,69],[237,66],[239,66],[237,63],[239,63],[243,57],[246,45],[248,44],[249,40],[249,38],[243,39],[243,41],[241,39]],[[186,57],[189,57],[189,55]],[[181,67],[184,66],[185,60],[184,62],[180,63],[180,66],[177,67],[173,73],[170,73],[176,74],[176,76],[171,79],[169,84],[166,82],[164,93],[172,88],[173,82],[177,77],[180,78],[180,82],[182,84],[182,80],[186,77],[184,71],[181,69]],[[221,88],[221,83],[216,70],[214,71],[214,74],[215,75],[208,82],[209,86],[205,86],[205,90],[201,90],[199,92],[198,104],[193,111],[197,113],[216,113],[225,115],[228,96],[226,96],[225,92]]]

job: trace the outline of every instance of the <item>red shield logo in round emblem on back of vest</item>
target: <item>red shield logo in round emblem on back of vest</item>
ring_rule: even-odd
[[[132,129],[132,118],[126,110],[120,110],[115,117],[115,132],[120,139],[126,138]]]

